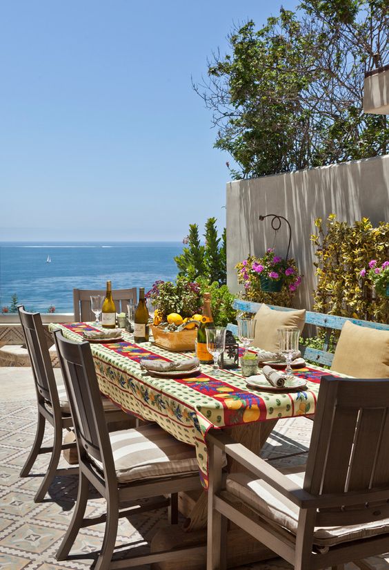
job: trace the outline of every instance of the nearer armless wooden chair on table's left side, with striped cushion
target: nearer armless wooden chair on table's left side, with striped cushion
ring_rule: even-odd
[[[155,504],[119,511],[129,502],[139,505],[141,497],[170,495],[170,522],[178,520],[179,491],[201,488],[194,448],[183,444],[159,428],[149,424],[108,434],[103,421],[96,372],[89,343],[73,343],[60,331],[54,332],[59,361],[63,370],[74,431],[79,451],[79,491],[68,532],[57,552],[57,560],[66,560],[79,529],[106,520],[101,552],[94,570],[151,564],[161,560],[182,560],[186,550],[139,555],[126,560],[112,560],[118,518],[155,509]],[[88,501],[88,483],[107,502],[107,514],[84,518]],[[158,506],[161,506],[161,502]],[[163,501],[166,505],[166,500]],[[192,553],[203,553],[206,547],[193,547]]]

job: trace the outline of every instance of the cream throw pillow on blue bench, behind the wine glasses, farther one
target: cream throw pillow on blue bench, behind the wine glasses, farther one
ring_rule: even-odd
[[[257,321],[255,326],[255,339],[253,345],[270,352],[279,351],[277,328],[299,327],[300,332],[306,322],[306,310],[277,311],[269,309],[265,304],[261,305],[254,317]]]

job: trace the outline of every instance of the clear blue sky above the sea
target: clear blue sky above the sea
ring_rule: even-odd
[[[295,1],[283,1],[293,9]],[[223,226],[226,160],[194,93],[233,23],[281,2],[3,1],[0,240],[181,240]]]

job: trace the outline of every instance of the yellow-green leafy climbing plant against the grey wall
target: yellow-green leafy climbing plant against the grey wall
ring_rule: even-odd
[[[355,319],[387,323],[389,298],[377,296],[368,275],[361,270],[371,260],[382,265],[389,255],[389,223],[372,227],[368,218],[348,225],[335,214],[326,224],[315,220],[316,234],[311,236],[316,247],[317,288],[314,309],[321,313],[352,316]]]

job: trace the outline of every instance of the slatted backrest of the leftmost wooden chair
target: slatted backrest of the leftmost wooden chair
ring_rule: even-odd
[[[57,410],[59,409],[57,383],[52,370],[41,315],[39,313],[27,312],[24,310],[23,305],[17,307],[17,310],[30,356],[38,398],[50,401],[52,408]]]

